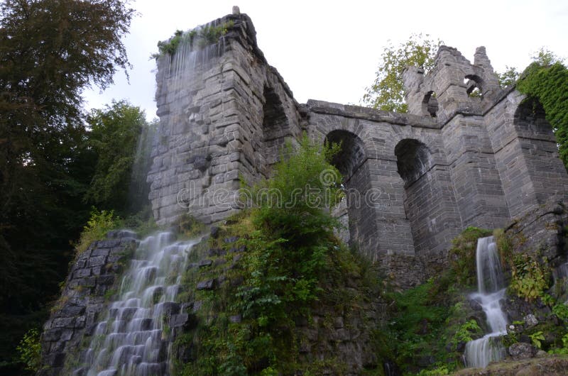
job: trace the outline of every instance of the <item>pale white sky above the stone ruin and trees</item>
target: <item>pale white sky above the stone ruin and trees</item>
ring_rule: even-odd
[[[127,99],[155,117],[155,62],[158,40],[231,13],[238,5],[254,23],[258,46],[292,89],[295,99],[359,104],[373,82],[388,40],[395,45],[411,33],[427,33],[473,60],[485,45],[493,68],[523,69],[545,46],[568,56],[568,1],[253,1],[138,0],[125,45],[133,70],[130,84],[118,72],[113,87],[84,92],[87,108]]]

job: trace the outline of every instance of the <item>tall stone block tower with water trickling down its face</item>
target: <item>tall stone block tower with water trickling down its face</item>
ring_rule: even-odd
[[[234,27],[217,44],[158,59],[160,131],[148,182],[160,224],[186,213],[226,218],[239,209],[239,177],[252,184],[266,175],[284,140],[300,134],[297,104],[256,48],[249,18],[214,24],[227,21]]]

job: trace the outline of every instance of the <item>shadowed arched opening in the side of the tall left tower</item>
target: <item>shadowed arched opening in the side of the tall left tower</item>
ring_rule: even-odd
[[[290,123],[282,101],[273,88],[264,87],[264,99],[262,109],[262,155],[264,160],[259,165],[268,170],[271,165],[278,161],[285,138],[290,136]]]

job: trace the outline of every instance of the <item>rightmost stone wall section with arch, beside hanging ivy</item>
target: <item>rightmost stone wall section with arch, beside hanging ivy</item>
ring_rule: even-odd
[[[535,206],[567,199],[568,175],[544,118],[526,118],[525,96],[509,92],[485,116],[510,219]],[[526,108],[524,108],[526,109]]]

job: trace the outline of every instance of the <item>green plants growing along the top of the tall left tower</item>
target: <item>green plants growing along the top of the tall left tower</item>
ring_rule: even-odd
[[[212,45],[219,42],[219,38],[225,35],[229,28],[233,26],[233,21],[227,21],[218,26],[205,25],[185,33],[177,30],[172,38],[158,42],[158,53],[153,54],[152,57],[158,59],[158,57],[163,55],[174,55],[180,45],[183,44],[189,45],[190,48],[204,48],[207,45]]]

